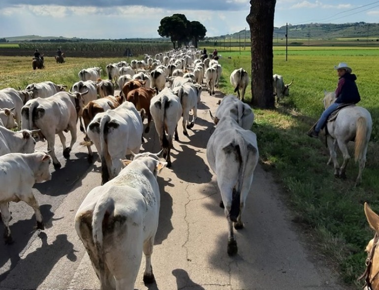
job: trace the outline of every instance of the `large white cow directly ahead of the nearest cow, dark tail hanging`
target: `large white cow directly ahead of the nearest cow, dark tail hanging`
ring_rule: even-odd
[[[100,156],[102,184],[119,174],[121,159],[131,152],[139,152],[142,132],[142,118],[131,102],[125,101],[113,110],[96,114],[87,134]]]

